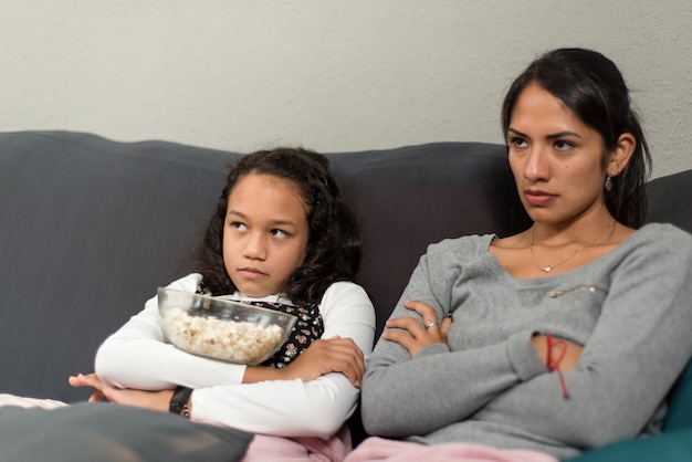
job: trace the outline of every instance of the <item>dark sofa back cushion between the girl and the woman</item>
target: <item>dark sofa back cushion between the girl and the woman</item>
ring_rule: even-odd
[[[504,146],[430,143],[329,157],[361,219],[358,281],[377,311],[377,335],[430,243],[526,229]]]

